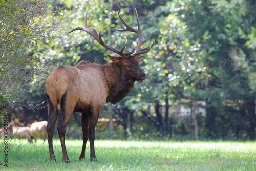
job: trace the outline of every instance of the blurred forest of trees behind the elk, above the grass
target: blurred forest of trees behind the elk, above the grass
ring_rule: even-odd
[[[116,105],[106,104],[98,139],[255,140],[256,2],[254,0],[0,0],[0,108],[30,125],[47,120],[45,81],[54,67],[80,60],[107,63],[84,25],[120,49],[136,36],[117,32],[127,23],[155,46],[140,66],[147,79]],[[145,46],[148,46],[148,42]],[[112,54],[115,55],[115,54]],[[1,126],[1,125],[0,125]],[[67,137],[81,139],[80,114]]]

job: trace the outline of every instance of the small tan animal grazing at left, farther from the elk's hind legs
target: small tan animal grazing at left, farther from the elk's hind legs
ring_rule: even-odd
[[[10,130],[12,131],[15,140],[16,138],[27,138],[30,143],[33,143],[33,136],[30,127],[20,127],[15,122],[10,122],[9,124]]]

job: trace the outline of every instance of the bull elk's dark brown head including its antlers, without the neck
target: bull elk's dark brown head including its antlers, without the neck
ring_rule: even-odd
[[[124,52],[124,49],[127,45],[127,40],[126,40],[124,46],[120,50],[118,50],[118,49],[116,49],[114,47],[111,47],[110,45],[106,44],[102,40],[101,31],[99,33],[97,33],[97,31],[95,29],[90,30],[87,26],[88,11],[87,11],[85,19],[84,19],[85,25],[83,27],[76,27],[76,28],[74,28],[73,30],[71,30],[67,33],[71,33],[75,30],[83,30],[83,31],[87,32],[96,41],[98,41],[100,43],[100,45],[102,45],[106,49],[109,49],[109,50],[117,53],[118,55],[120,55],[120,56],[108,55],[108,57],[110,58],[110,60],[112,60],[113,62],[117,63],[117,65],[120,66],[120,69],[122,70],[122,73],[124,73],[125,78],[130,78],[132,80],[137,80],[137,81],[143,81],[146,78],[146,74],[140,69],[139,62],[142,61],[144,56],[137,56],[137,55],[144,54],[144,53],[147,53],[148,51],[150,51],[150,49],[154,45],[154,40],[153,40],[153,43],[149,47],[140,49],[141,45],[144,44],[146,41],[148,41],[151,38],[152,32],[151,32],[150,36],[148,36],[146,39],[142,39],[139,17],[138,17],[138,13],[137,13],[136,9],[135,9],[135,11],[136,11],[136,17],[137,17],[137,23],[138,23],[138,29],[137,30],[134,29],[133,27],[131,27],[129,24],[127,24],[125,22],[125,20],[121,17],[119,11],[118,11],[118,16],[119,16],[121,22],[126,27],[126,29],[116,29],[116,28],[114,28],[115,30],[120,31],[120,32],[131,31],[131,32],[134,32],[134,33],[138,34],[137,46],[135,48],[133,48],[132,51],[129,51],[129,52]]]

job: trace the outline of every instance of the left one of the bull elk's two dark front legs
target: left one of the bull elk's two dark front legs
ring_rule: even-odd
[[[88,140],[88,123],[90,122],[89,114],[82,113],[81,124],[82,124],[82,151],[79,160],[83,160],[86,153],[86,143]]]

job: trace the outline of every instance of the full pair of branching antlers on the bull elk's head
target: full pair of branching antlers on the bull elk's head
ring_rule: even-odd
[[[97,31],[95,29],[93,30],[90,30],[87,26],[87,14],[88,14],[88,11],[86,12],[86,16],[84,18],[84,26],[83,27],[76,27],[74,28],[73,30],[67,32],[67,33],[71,33],[75,30],[83,30],[85,32],[87,32],[88,34],[90,34],[91,36],[93,36],[93,38],[99,42],[100,45],[102,45],[103,47],[105,47],[106,49],[109,49],[117,54],[119,54],[120,56],[122,57],[125,57],[125,56],[128,56],[128,55],[139,55],[139,54],[143,54],[143,53],[147,53],[148,51],[150,51],[150,49],[153,47],[154,45],[154,40],[153,40],[153,44],[151,44],[149,47],[147,48],[143,48],[143,49],[139,49],[140,46],[142,44],[144,44],[146,41],[148,41],[152,35],[152,32],[150,34],[150,36],[148,36],[145,40],[142,40],[142,37],[141,37],[141,29],[140,29],[140,22],[139,22],[139,17],[138,17],[138,13],[137,13],[137,10],[135,9],[136,11],[136,17],[137,17],[137,23],[138,23],[138,30],[132,28],[129,24],[127,24],[124,19],[121,17],[119,11],[118,11],[118,16],[119,18],[121,19],[122,23],[124,24],[124,26],[126,27],[126,29],[116,29],[114,28],[115,30],[117,31],[132,31],[132,32],[135,32],[138,34],[138,45],[130,52],[126,52],[124,53],[123,50],[125,49],[126,45],[127,45],[127,40],[125,41],[125,44],[124,46],[121,48],[121,50],[118,50],[116,48],[113,48],[111,46],[109,46],[108,44],[106,44],[102,38],[101,38],[101,31],[99,32],[99,34],[97,33]]]

